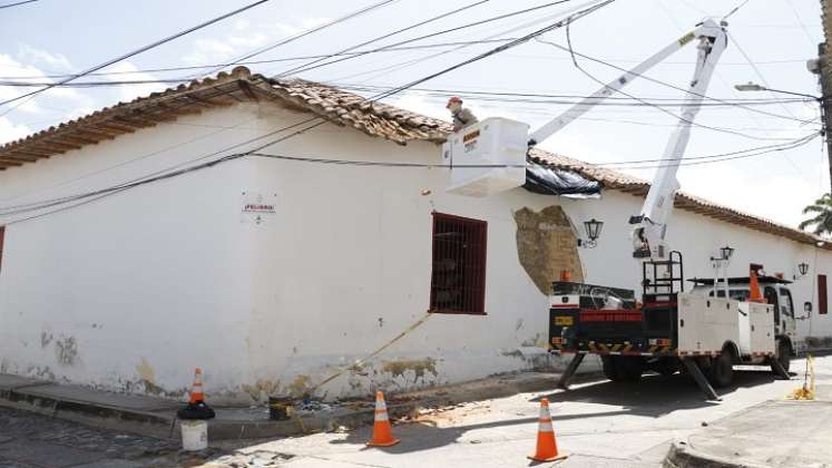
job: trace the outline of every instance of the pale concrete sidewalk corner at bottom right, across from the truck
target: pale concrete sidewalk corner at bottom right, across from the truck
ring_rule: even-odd
[[[832,467],[832,386],[819,386],[815,398],[813,401],[771,400],[723,418],[674,442],[665,465],[679,468]]]

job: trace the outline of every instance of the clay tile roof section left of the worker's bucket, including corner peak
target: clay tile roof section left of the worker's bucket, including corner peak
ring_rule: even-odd
[[[216,78],[194,80],[130,103],[118,103],[85,117],[40,130],[0,146],[0,170],[114,139],[139,128],[243,101],[273,100],[313,113],[336,125],[398,144],[443,142],[450,124],[300,79],[273,80],[245,67]]]

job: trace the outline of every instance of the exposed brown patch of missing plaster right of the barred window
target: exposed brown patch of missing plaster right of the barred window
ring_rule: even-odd
[[[551,283],[562,270],[571,273],[571,281],[584,281],[578,240],[560,206],[548,206],[539,213],[518,209],[515,222],[520,264],[541,293],[551,293]]]

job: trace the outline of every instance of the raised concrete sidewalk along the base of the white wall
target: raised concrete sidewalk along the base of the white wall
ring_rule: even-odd
[[[559,376],[521,372],[479,381],[433,388],[388,397],[394,417],[411,416],[420,408],[480,398],[554,389]],[[209,400],[208,400],[209,401]],[[325,406],[317,411],[298,411],[287,421],[272,421],[265,406],[217,408],[208,423],[209,440],[238,440],[298,436],[340,427],[371,425],[374,398]],[[104,429],[124,430],[163,439],[180,438],[176,410],[183,402],[137,394],[111,393],[87,387],[59,384],[0,373],[0,406],[80,422]]]

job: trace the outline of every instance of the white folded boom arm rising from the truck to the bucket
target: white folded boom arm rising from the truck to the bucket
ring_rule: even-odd
[[[636,225],[633,231],[634,257],[665,257],[666,248],[664,241],[667,220],[673,212],[674,195],[679,188],[678,181],[676,181],[676,172],[678,170],[679,160],[685,154],[687,143],[691,139],[691,125],[702,107],[702,99],[711,82],[714,67],[727,47],[727,35],[725,33],[724,26],[724,22],[717,25],[714,20],[706,19],[692,32],[688,32],[644,62],[606,84],[603,88],[584,98],[529,136],[529,146],[541,143],[694,39],[698,39],[696,69],[685,94],[678,123],[671,135],[671,139],[667,142],[664,155],[658,164],[659,168],[653,178],[653,184],[639,215],[630,217],[630,224]]]

